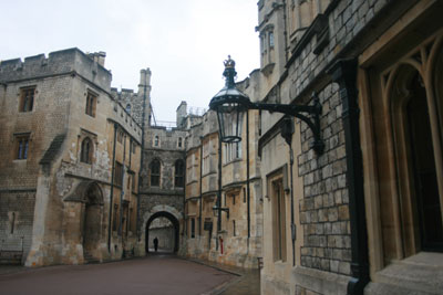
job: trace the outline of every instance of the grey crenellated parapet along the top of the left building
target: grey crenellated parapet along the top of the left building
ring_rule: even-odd
[[[91,55],[91,54],[90,54]],[[78,48],[0,62],[0,82],[50,77],[63,74],[79,74],[105,91],[111,88],[112,74],[96,60]],[[103,54],[102,54],[103,55]]]

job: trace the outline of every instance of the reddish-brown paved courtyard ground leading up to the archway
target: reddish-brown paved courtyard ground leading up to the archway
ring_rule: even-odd
[[[237,275],[215,267],[154,254],[103,264],[0,267],[0,294],[214,294],[236,280]]]

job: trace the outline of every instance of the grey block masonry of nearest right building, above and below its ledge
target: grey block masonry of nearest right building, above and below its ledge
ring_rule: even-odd
[[[349,194],[346,180],[346,149],[342,126],[342,102],[337,84],[322,85],[321,76],[334,59],[344,54],[374,15],[387,4],[385,0],[331,1],[324,17],[329,43],[319,52],[317,38],[311,35],[303,48],[296,49],[289,66],[290,97],[305,98],[308,89],[319,88],[322,105],[320,119],[324,152],[316,156],[309,147],[312,133],[301,124],[301,148],[298,156],[299,176],[303,178],[305,199],[300,202],[300,222],[305,245],[301,265],[337,274],[350,275],[351,238],[349,224]],[[346,51],[344,51],[346,50]],[[306,102],[312,104],[312,102]]]

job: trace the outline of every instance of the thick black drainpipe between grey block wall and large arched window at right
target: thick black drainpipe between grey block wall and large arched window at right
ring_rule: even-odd
[[[343,129],[347,155],[347,182],[349,189],[349,219],[351,225],[351,272],[348,294],[363,294],[369,283],[368,235],[364,208],[363,161],[360,147],[357,60],[339,60],[328,73],[339,84],[343,104]]]

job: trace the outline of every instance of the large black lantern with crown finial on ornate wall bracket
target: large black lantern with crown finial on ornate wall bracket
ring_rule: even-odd
[[[224,64],[225,71],[223,75],[226,77],[225,87],[223,87],[209,103],[209,108],[217,112],[222,141],[240,141],[244,113],[248,109],[264,109],[297,117],[308,124],[313,134],[313,143],[311,144],[311,147],[317,154],[323,151],[324,144],[320,138],[321,105],[317,95],[313,94],[315,104],[312,106],[253,103],[249,97],[239,92],[235,85],[234,78],[237,75],[237,72],[235,71],[235,62],[230,59],[230,55],[228,55],[228,60],[226,60]],[[305,115],[306,113],[310,116]]]

